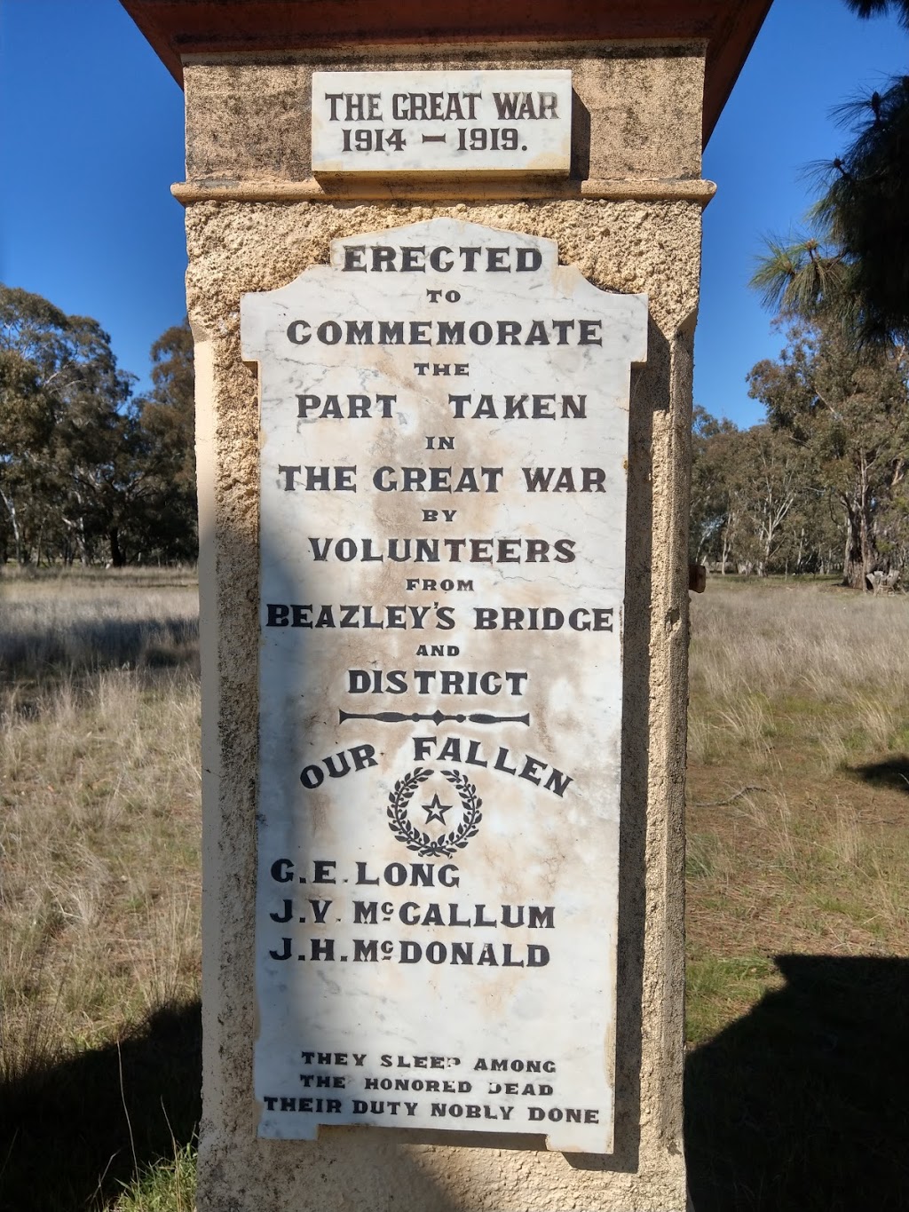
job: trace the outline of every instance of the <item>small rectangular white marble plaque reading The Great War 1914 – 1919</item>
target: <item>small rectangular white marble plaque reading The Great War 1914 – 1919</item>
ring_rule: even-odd
[[[313,172],[559,173],[571,72],[316,72]]]

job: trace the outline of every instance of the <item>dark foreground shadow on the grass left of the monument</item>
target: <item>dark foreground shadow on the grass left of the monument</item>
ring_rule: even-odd
[[[1,1212],[103,1207],[137,1168],[193,1139],[199,1002],[159,1010],[109,1045],[0,1084]],[[135,1157],[133,1157],[135,1154]]]

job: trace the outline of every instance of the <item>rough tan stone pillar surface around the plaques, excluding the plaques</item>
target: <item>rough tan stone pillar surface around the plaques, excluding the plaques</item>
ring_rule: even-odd
[[[205,971],[199,1207],[610,1208],[681,1212],[682,799],[687,475],[698,298],[703,44],[511,46],[457,58],[362,48],[273,62],[191,58],[189,315],[196,339],[204,625]],[[348,187],[309,175],[311,70],[571,68],[574,173],[561,184]],[[479,1133],[324,1128],[256,1137],[252,1047],[257,784],[257,384],[239,307],[324,264],[342,235],[453,216],[558,241],[607,291],[650,301],[631,393],[624,634],[616,1145],[607,1156]]]

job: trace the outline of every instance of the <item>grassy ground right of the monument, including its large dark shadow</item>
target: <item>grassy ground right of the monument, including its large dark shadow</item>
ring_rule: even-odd
[[[909,598],[710,581],[687,876],[697,1212],[909,1208]]]

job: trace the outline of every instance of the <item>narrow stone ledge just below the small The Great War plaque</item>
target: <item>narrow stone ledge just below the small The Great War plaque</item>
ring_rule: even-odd
[[[707,206],[716,193],[711,181],[679,178],[608,181],[545,179],[522,177],[459,177],[447,182],[389,181],[368,177],[308,181],[179,181],[171,193],[184,206],[191,202],[464,202],[464,201],[682,201]]]

